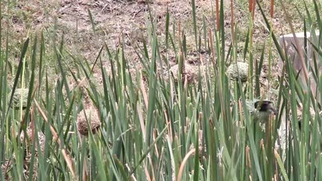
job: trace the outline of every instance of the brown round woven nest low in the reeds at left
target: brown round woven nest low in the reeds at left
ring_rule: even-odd
[[[87,108],[78,114],[77,129],[78,132],[84,136],[87,136],[89,131],[87,121],[89,122],[90,129],[92,130],[93,134],[98,132],[98,129],[100,128],[100,119],[96,109]]]

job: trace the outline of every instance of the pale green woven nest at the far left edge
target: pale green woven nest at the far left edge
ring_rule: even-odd
[[[27,108],[28,93],[29,93],[28,88],[17,88],[14,92],[13,97],[12,97],[12,102],[9,105],[10,108],[18,110],[18,109],[20,109],[21,104],[22,104],[23,109]],[[11,93],[8,95],[8,104],[10,103],[9,102],[10,96],[11,96]],[[21,99],[22,99],[22,102],[21,102]]]

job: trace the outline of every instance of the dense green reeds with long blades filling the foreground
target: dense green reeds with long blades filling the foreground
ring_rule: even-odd
[[[211,25],[205,18],[197,22],[191,1],[193,47],[187,47],[180,24],[170,23],[169,13],[165,36],[158,36],[156,15],[150,12],[147,40],[136,49],[142,69],[134,72],[124,36],[117,49],[101,47],[91,63],[65,49],[64,36],[54,31],[26,38],[16,65],[8,46],[10,30],[0,25],[1,180],[322,180],[322,38],[316,38],[322,11],[321,2],[305,2],[300,1],[303,9],[297,13],[312,38],[305,38],[304,45],[316,52],[308,57],[303,51],[303,63],[313,62],[303,69],[305,82],[279,45],[273,8],[267,14],[261,1],[249,2],[241,51],[233,16],[229,32],[225,29],[223,0],[214,2]],[[285,26],[293,29],[286,4],[275,4],[285,10]],[[253,45],[255,7],[269,32],[263,51]],[[202,62],[194,73],[187,68],[189,49]],[[169,71],[168,52],[175,53],[175,73]],[[248,64],[246,80],[238,78],[239,67],[234,80],[227,73],[237,56]],[[274,56],[283,67],[273,76]],[[57,76],[43,66],[49,60]],[[106,62],[109,67],[103,66]],[[264,63],[274,93],[261,86]],[[249,111],[253,99],[274,100],[276,115],[265,125]]]

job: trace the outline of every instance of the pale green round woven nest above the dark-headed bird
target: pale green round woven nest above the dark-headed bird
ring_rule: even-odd
[[[227,74],[230,77],[230,80],[238,80],[240,78],[241,82],[247,82],[248,64],[244,62],[237,62],[237,64],[230,64],[230,66],[227,69]]]

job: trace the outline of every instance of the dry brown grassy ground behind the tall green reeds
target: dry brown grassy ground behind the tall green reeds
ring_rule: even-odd
[[[211,0],[196,0],[197,12],[197,27],[202,32],[202,19],[206,20],[208,27],[213,29],[215,27],[212,16],[212,5],[215,1]],[[229,1],[224,4],[224,26],[226,28],[226,45],[230,45],[230,3]],[[294,5],[299,5],[299,1],[286,0],[288,12],[292,16],[295,29],[301,31],[302,23],[300,16],[297,15]],[[261,5],[268,14],[269,2],[261,1]],[[300,4],[301,5],[301,4]],[[303,7],[303,5],[302,5]],[[147,40],[147,22],[149,22],[149,9],[152,12],[153,22],[156,22],[158,29],[158,36],[160,38],[160,47],[164,47],[164,32],[165,32],[165,17],[167,10],[170,13],[170,27],[171,32],[172,24],[175,21],[176,29],[178,31],[178,23],[184,29],[187,38],[188,47],[188,63],[191,66],[197,67],[198,62],[197,52],[195,51],[194,34],[193,34],[193,19],[192,8],[190,0],[155,0],[147,5],[144,0],[31,0],[31,1],[2,1],[1,10],[3,12],[2,27],[4,32],[7,32],[10,42],[10,52],[14,55],[17,61],[20,54],[20,47],[23,39],[27,36],[34,36],[39,32],[44,32],[45,43],[47,51],[52,49],[53,42],[52,35],[56,34],[60,38],[64,34],[66,50],[75,55],[78,60],[89,60],[94,62],[100,47],[107,43],[110,49],[117,49],[120,45],[120,38],[124,38],[125,42],[125,55],[129,62],[131,69],[134,71],[140,69],[138,64],[138,57],[136,56],[137,46],[142,45],[142,40]],[[244,49],[244,41],[248,31],[248,1],[236,0],[234,1],[234,16],[239,34],[237,36],[238,49]],[[92,13],[92,19],[89,16]],[[277,3],[275,7],[275,17],[272,20],[273,27],[275,27],[276,34],[280,35],[281,32],[289,33],[289,26],[286,23],[285,14],[281,5]],[[282,30],[283,29],[283,30]],[[254,47],[255,58],[260,58],[261,49],[264,43],[268,43],[268,30],[265,26],[264,20],[257,9],[255,12],[254,23]],[[5,37],[2,38],[2,47],[5,46]],[[168,52],[169,53],[169,52]],[[265,53],[268,55],[268,52]],[[106,55],[103,55],[106,56]],[[169,53],[167,56],[173,59],[173,54]],[[56,62],[53,60],[54,56],[50,53],[47,54],[48,71],[55,73],[57,70],[53,69]],[[239,60],[242,59],[240,51]],[[70,59],[70,58],[69,58]],[[66,62],[69,60],[66,56]],[[267,65],[268,56],[265,57],[264,71],[261,75],[261,82],[265,90],[268,86]],[[274,69],[278,70],[276,62],[278,55],[273,54],[275,60]],[[105,61],[105,67],[108,68],[108,61]],[[71,64],[72,67],[72,64]],[[277,72],[273,72],[273,80],[277,81]],[[100,79],[99,71],[94,74]],[[274,85],[274,84],[273,84]],[[274,85],[276,88],[276,84]]]

